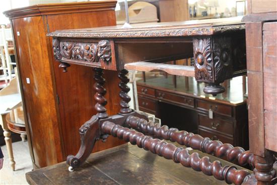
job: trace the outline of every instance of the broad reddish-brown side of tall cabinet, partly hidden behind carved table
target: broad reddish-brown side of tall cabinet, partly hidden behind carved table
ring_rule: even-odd
[[[71,13],[63,15],[47,16],[48,32],[59,29],[92,28],[99,26],[115,25],[114,11]],[[48,37],[51,43],[51,37]],[[79,128],[96,114],[94,109],[95,100],[93,98],[96,91],[93,89],[94,72],[91,67],[71,65],[67,73],[63,73],[58,68],[59,63],[53,60],[53,68],[56,79],[57,94],[59,96],[60,121],[62,137],[64,141],[64,155],[76,154],[80,147]],[[119,112],[120,98],[117,95],[120,91],[118,87],[119,79],[116,71],[104,71],[106,79],[105,87],[108,100],[106,108],[110,115]],[[74,137],[73,137],[74,136]],[[117,138],[110,137],[105,144],[97,142],[95,151],[104,150],[117,146],[124,142]]]

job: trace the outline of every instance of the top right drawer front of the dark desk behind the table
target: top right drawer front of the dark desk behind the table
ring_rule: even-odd
[[[232,117],[232,106],[229,106],[229,105],[216,104],[216,103],[211,103],[207,101],[196,100],[196,106],[198,109],[204,109],[206,111],[208,111],[209,109],[212,109],[213,112],[215,113]]]

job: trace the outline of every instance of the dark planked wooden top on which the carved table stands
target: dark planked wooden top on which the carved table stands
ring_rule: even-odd
[[[200,154],[203,155],[207,154]],[[223,165],[231,165],[221,161]],[[91,154],[73,172],[67,168],[65,162],[41,168],[27,173],[27,181],[31,184],[226,184],[130,144]]]

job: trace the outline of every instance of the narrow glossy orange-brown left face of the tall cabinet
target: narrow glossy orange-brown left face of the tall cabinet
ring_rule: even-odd
[[[16,33],[18,68],[31,128],[34,162],[38,167],[55,164],[62,161],[64,156],[55,110],[54,84],[50,75],[51,55],[48,55],[46,32],[43,29],[44,20],[42,17],[28,17],[14,19],[12,23]],[[30,79],[30,84],[26,78]]]

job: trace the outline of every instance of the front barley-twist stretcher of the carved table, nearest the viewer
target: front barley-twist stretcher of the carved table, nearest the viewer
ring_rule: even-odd
[[[250,174],[247,170],[237,170],[235,166],[222,166],[220,161],[211,163],[209,157],[200,158],[196,152],[189,154],[187,149],[176,147],[159,139],[153,139],[151,136],[124,128],[110,121],[103,122],[101,130],[106,134],[130,142],[132,145],[150,150],[166,159],[172,159],[185,167],[191,167],[195,171],[202,171],[206,175],[213,175],[219,180],[225,180],[227,183],[241,184],[244,178]]]

